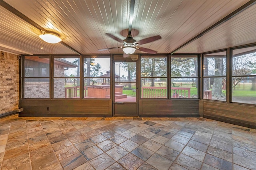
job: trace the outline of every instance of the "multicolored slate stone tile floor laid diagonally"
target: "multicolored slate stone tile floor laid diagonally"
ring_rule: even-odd
[[[256,169],[256,129],[204,118],[0,119],[0,169]]]

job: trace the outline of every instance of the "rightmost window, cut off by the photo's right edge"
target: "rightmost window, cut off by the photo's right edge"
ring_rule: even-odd
[[[256,104],[256,47],[232,50],[232,102]]]

